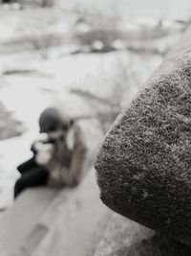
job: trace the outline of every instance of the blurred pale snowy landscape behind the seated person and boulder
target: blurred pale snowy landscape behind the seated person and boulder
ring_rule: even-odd
[[[88,116],[97,145],[190,14],[189,0],[0,1],[0,209],[12,203],[41,111],[56,104]]]

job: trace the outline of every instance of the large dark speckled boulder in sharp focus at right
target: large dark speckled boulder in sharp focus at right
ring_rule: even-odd
[[[191,245],[191,30],[117,117],[96,157],[100,198]]]

